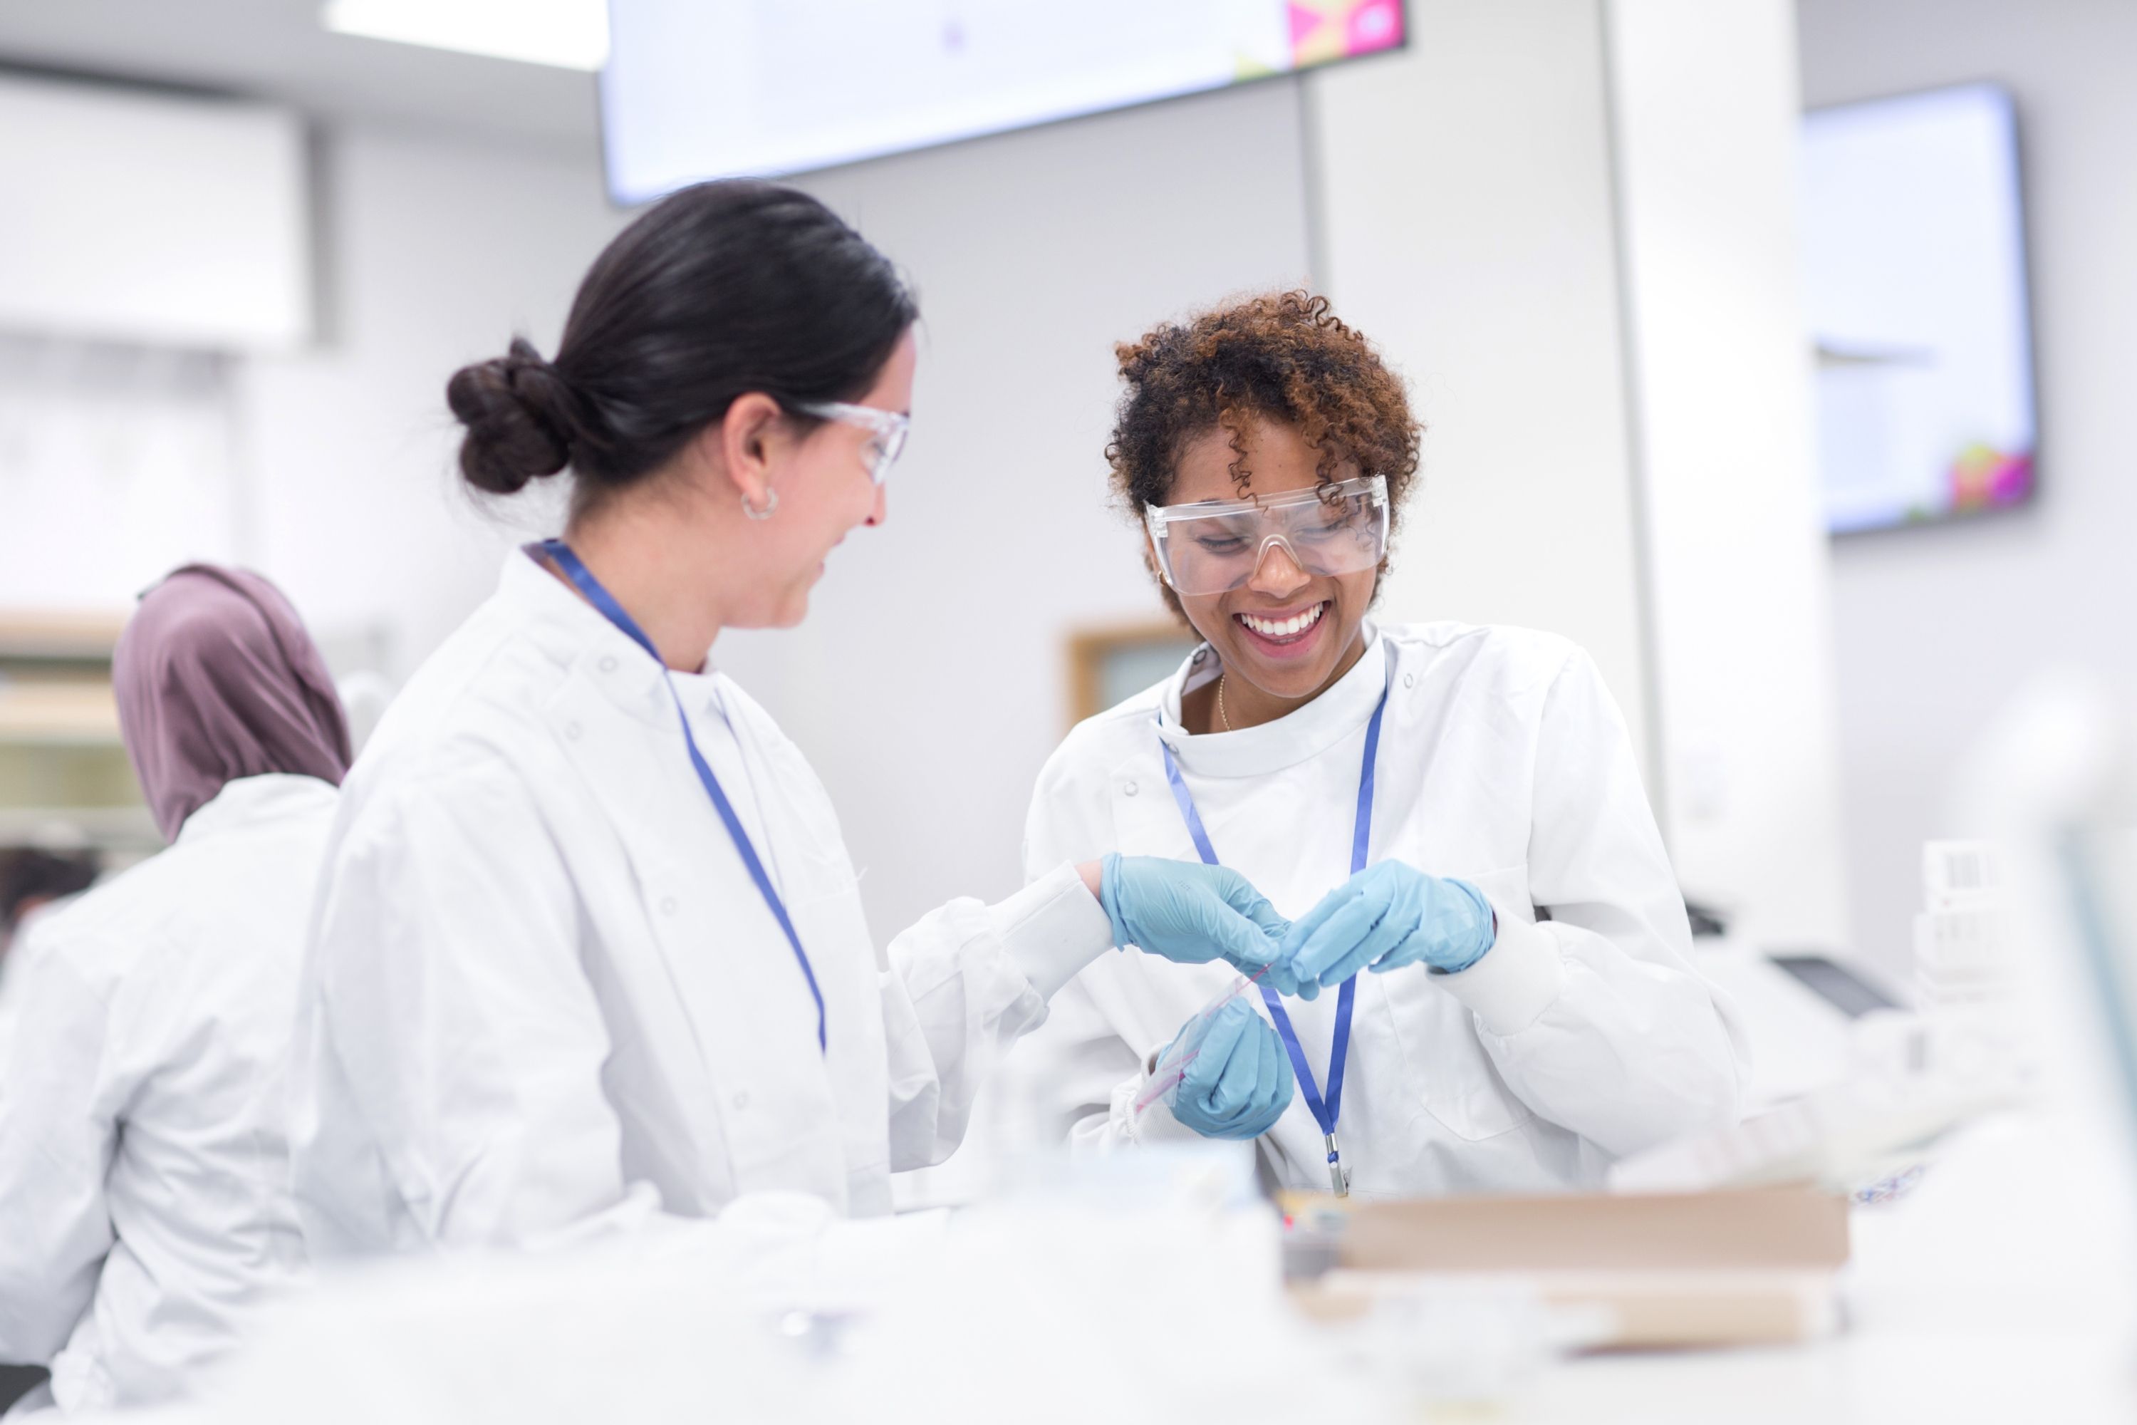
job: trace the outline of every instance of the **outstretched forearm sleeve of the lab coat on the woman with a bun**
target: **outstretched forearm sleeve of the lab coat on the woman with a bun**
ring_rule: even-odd
[[[955,1152],[1009,1047],[1111,949],[1105,910],[1066,861],[1004,902],[951,902],[891,940],[880,981],[893,1171]]]

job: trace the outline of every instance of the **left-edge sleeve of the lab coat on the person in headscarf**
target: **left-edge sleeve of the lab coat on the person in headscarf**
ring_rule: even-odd
[[[111,1250],[118,1147],[109,1004],[71,961],[64,919],[15,949],[21,1015],[0,1070],[0,1361],[45,1365],[96,1295]]]

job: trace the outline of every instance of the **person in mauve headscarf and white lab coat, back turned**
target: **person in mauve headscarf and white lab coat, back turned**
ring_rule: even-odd
[[[188,1393],[303,1267],[288,1038],[348,767],[259,575],[173,573],[111,679],[171,846],[30,923],[0,1068],[0,1361],[49,1365],[66,1410]]]

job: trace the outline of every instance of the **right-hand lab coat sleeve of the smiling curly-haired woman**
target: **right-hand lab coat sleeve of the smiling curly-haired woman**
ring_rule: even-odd
[[[1475,1017],[1507,1085],[1609,1154],[1735,1122],[1748,1053],[1693,938],[1633,741],[1575,652],[1543,692],[1530,899],[1496,906],[1498,942],[1434,976]]]

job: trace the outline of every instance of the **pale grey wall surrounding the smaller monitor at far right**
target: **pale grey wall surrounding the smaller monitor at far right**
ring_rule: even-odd
[[[2011,88],[2032,241],[2041,496],[1968,526],[1834,545],[1853,927],[1902,968],[1925,837],[1962,746],[2034,669],[2137,696],[2137,6],[2126,0],[1801,0],[1804,98],[1962,79]]]

